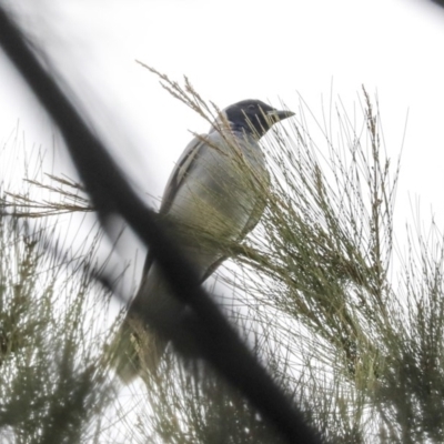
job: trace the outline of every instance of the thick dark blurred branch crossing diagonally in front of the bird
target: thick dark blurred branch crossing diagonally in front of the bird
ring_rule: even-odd
[[[192,309],[192,315],[184,319],[178,330],[167,332],[147,313],[143,304],[134,307],[137,314],[179,345],[181,334],[178,332],[182,330],[183,333],[185,329],[200,355],[236,386],[289,442],[320,443],[317,434],[303,421],[302,413],[278,389],[199,285],[196,274],[163,233],[154,212],[124,180],[105,147],[42,68],[2,7],[0,44],[60,128],[99,218],[104,221],[111,213],[122,215],[153,252],[176,297]]]

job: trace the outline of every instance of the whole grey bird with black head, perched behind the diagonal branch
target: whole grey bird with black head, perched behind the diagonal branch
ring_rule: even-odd
[[[260,100],[243,100],[220,111],[208,134],[195,135],[173,169],[159,219],[203,283],[229,256],[225,242],[240,242],[266,205],[270,176],[259,143],[273,124],[294,115]],[[132,304],[173,327],[185,310],[148,252]],[[131,309],[109,346],[111,365],[123,383],[143,371],[155,374],[168,339]]]

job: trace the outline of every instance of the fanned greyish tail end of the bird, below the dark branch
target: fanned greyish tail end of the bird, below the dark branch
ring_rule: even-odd
[[[139,319],[127,315],[105,352],[107,364],[124,384],[142,374],[155,374],[167,341]]]

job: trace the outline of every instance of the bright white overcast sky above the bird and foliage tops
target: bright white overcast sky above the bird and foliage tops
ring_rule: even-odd
[[[141,190],[162,193],[191,131],[208,123],[172,99],[135,59],[221,108],[299,94],[320,118],[322,100],[353,113],[364,84],[376,94],[386,148],[400,153],[397,223],[421,198],[444,226],[444,10],[426,0],[13,0],[27,31],[81,98]],[[0,141],[20,121],[27,144],[54,129],[0,57]],[[332,87],[333,85],[333,87]],[[408,114],[408,121],[407,121]],[[4,154],[3,154],[4,155]],[[59,155],[59,154],[58,154]],[[58,167],[68,170],[64,163]],[[0,169],[1,171],[1,169]],[[10,171],[9,171],[10,172]]]

